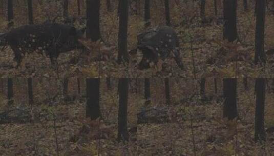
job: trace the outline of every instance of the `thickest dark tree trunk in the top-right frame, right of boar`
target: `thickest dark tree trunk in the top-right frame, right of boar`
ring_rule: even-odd
[[[237,0],[224,0],[223,7],[223,39],[233,42],[237,39]]]

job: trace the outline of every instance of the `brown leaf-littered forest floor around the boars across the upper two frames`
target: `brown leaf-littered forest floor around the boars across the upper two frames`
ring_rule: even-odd
[[[177,8],[178,9],[178,8]],[[183,9],[183,8],[182,8]],[[176,9],[175,9],[176,11]],[[178,11],[178,10],[177,10]],[[156,12],[157,13],[157,12]],[[155,14],[156,14],[155,13]],[[115,14],[104,12],[101,18],[101,34],[108,47],[101,47],[101,54],[106,56],[104,61],[98,61],[97,50],[90,54],[81,54],[80,50],[62,53],[58,58],[58,70],[50,64],[46,56],[29,54],[25,56],[22,67],[14,68],[13,52],[6,49],[0,53],[0,75],[6,77],[35,76],[35,77],[273,77],[274,62],[270,49],[274,49],[272,34],[274,19],[267,14],[265,26],[265,51],[268,51],[267,64],[254,64],[255,17],[250,11],[238,13],[238,35],[241,43],[229,44],[222,40],[222,25],[217,25],[217,18],[207,25],[201,24],[197,16],[180,16],[172,12],[173,28],[180,38],[182,62],[185,70],[181,70],[173,59],[167,59],[164,68],[154,66],[147,70],[137,69],[142,54],[132,55],[130,64],[118,65],[117,38],[118,21]],[[158,19],[159,18],[159,19]],[[130,16],[128,33],[128,50],[137,44],[137,34],[145,31],[142,17]],[[4,20],[4,19],[0,19]],[[164,21],[164,20],[162,20]],[[163,25],[160,17],[155,17],[151,27]],[[0,30],[5,30],[4,25]],[[96,46],[95,46],[96,48]],[[97,60],[97,61],[96,61]]]

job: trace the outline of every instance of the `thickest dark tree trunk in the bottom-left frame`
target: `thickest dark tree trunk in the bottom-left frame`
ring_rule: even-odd
[[[96,120],[101,117],[100,112],[100,79],[87,78],[87,105],[86,105],[86,118]]]

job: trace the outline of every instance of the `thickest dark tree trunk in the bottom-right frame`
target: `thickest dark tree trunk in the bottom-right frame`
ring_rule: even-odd
[[[223,118],[233,120],[238,117],[237,111],[237,79],[223,79]]]

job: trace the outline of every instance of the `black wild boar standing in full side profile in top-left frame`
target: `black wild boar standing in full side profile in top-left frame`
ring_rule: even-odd
[[[84,31],[62,24],[27,25],[2,34],[0,46],[11,47],[17,67],[25,53],[31,52],[44,52],[50,57],[51,63],[55,63],[61,52],[80,46],[78,39],[83,37]]]

